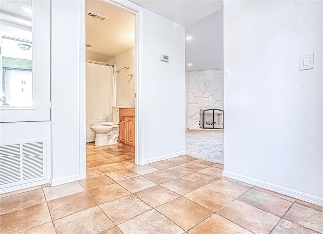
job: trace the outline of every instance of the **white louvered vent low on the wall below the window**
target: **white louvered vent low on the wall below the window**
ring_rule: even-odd
[[[45,140],[0,145],[0,188],[46,179]]]

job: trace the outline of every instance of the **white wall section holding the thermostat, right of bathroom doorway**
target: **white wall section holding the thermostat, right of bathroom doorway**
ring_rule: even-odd
[[[184,28],[144,10],[143,36],[141,124],[144,163],[149,163],[185,154]],[[160,54],[169,62],[161,62]]]

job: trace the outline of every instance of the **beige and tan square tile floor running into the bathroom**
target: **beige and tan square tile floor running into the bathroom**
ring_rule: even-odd
[[[323,207],[222,170],[186,155],[138,166],[133,149],[90,143],[86,179],[0,195],[0,233],[322,233]]]

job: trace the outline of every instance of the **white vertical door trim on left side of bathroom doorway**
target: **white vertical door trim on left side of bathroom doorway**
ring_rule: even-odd
[[[79,1],[79,175],[86,177],[85,1]]]

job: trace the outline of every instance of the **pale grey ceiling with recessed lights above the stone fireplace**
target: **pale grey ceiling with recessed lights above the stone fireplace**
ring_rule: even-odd
[[[187,71],[223,69],[223,0],[131,0],[185,27]]]

